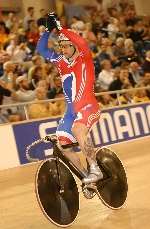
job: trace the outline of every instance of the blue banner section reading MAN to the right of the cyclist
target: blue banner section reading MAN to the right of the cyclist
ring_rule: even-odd
[[[97,146],[146,135],[150,135],[150,105],[104,111],[91,132]]]

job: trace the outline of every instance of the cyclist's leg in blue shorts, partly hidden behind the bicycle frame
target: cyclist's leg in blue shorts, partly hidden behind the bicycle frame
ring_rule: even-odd
[[[67,145],[77,142],[76,138],[73,136],[71,128],[75,117],[69,114],[65,114],[64,118],[60,120],[59,126],[57,127],[56,135],[59,140],[60,145]],[[72,148],[63,150],[64,155],[85,175],[86,170],[82,165],[79,156]]]

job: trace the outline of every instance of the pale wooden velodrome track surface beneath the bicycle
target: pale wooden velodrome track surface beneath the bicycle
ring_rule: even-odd
[[[122,160],[129,192],[124,207],[111,210],[98,197],[80,195],[73,229],[150,228],[150,137],[111,146]],[[0,171],[0,229],[55,229],[42,214],[34,193],[38,164]]]

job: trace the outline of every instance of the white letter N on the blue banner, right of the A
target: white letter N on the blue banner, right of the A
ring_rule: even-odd
[[[149,133],[148,123],[146,119],[145,111],[142,107],[134,107],[130,109],[130,114],[133,123],[133,129],[135,132],[135,136],[139,136],[141,133],[141,126],[139,125],[138,116],[141,118],[141,125],[143,127],[143,131],[145,134]]]

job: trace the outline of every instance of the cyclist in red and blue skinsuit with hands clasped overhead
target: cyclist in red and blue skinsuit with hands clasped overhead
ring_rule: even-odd
[[[59,33],[59,54],[48,48],[49,35],[54,28]],[[88,45],[77,33],[62,28],[57,16],[50,13],[45,32],[38,41],[37,51],[57,66],[62,81],[67,109],[56,131],[59,143],[79,143],[90,166],[83,183],[97,182],[103,178],[103,174],[97,165],[88,133],[92,125],[99,120],[100,110],[94,95],[94,65]],[[64,154],[85,173],[75,152],[66,150]]]

